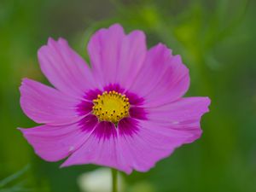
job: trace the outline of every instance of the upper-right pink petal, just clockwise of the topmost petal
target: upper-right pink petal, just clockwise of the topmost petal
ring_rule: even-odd
[[[188,88],[189,70],[181,57],[158,44],[148,51],[130,91],[144,97],[145,106],[156,107],[177,100]]]

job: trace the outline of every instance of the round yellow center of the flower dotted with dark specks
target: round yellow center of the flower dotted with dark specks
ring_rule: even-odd
[[[117,124],[120,119],[129,116],[129,99],[116,91],[104,91],[93,100],[93,114],[101,121]]]

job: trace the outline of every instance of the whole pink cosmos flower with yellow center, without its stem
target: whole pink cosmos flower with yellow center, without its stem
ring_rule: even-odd
[[[147,50],[143,32],[126,35],[118,24],[96,32],[88,53],[91,67],[66,40],[49,38],[38,59],[55,88],[22,81],[21,108],[43,125],[20,131],[41,158],[147,172],[201,137],[210,100],[182,98],[189,70],[180,55],[164,44]]]

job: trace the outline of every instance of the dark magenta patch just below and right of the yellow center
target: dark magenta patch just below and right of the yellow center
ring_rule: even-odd
[[[132,118],[124,118],[119,121],[118,124],[119,134],[122,135],[129,135],[132,136],[137,134],[139,131],[138,122],[136,119]]]

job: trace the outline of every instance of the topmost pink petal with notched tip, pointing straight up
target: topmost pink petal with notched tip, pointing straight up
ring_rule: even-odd
[[[102,87],[114,83],[129,87],[142,67],[146,50],[143,32],[125,35],[118,24],[99,30],[88,44],[93,73]]]

